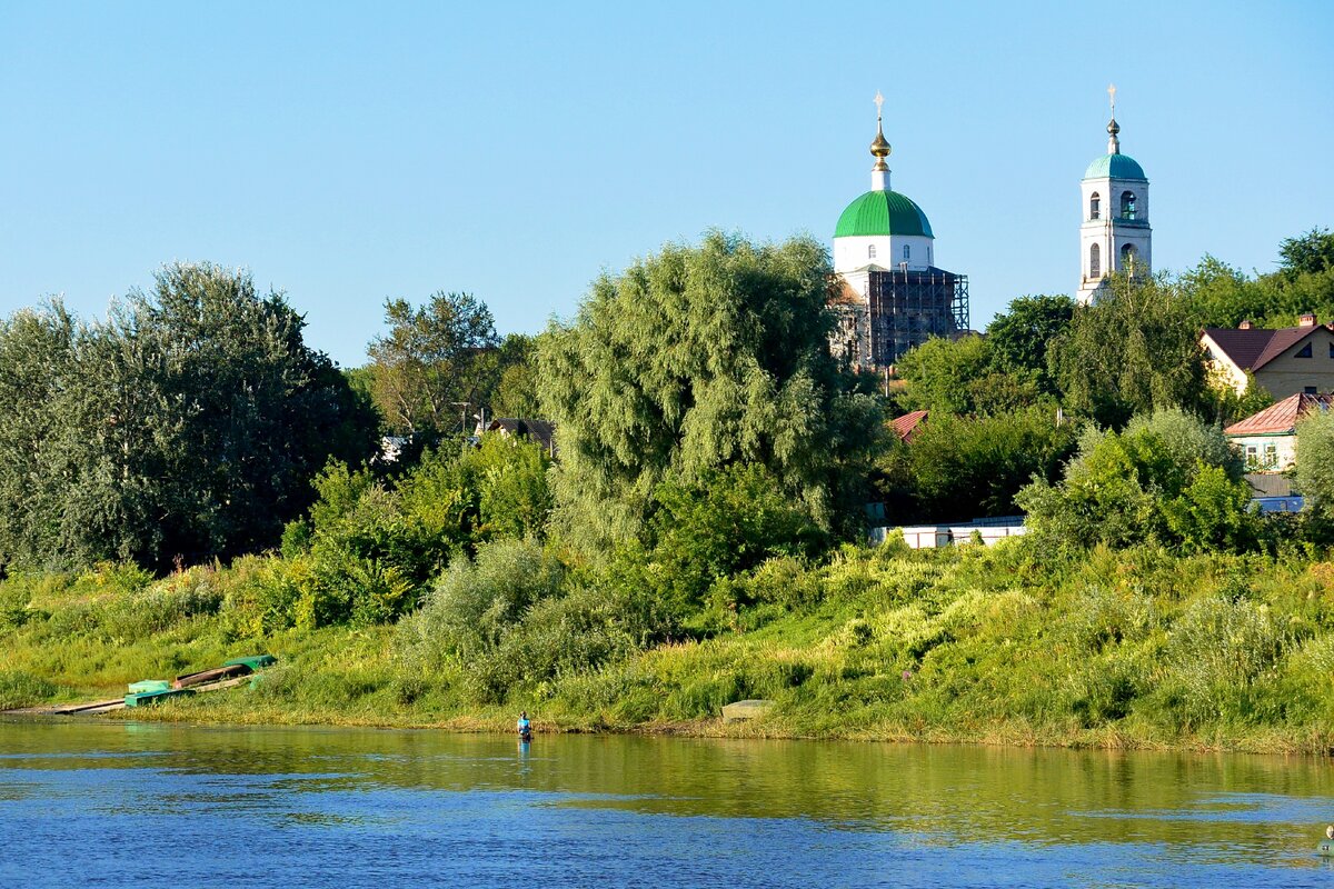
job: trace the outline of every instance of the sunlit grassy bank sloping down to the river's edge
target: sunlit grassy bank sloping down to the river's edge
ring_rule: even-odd
[[[1334,564],[1323,561],[1157,548],[1038,560],[1022,542],[848,548],[816,566],[775,558],[715,585],[692,638],[610,646],[591,666],[558,664],[538,681],[519,670],[499,688],[478,677],[504,664],[424,657],[420,616],[265,632],[251,592],[264,562],[0,584],[0,706],[116,693],[267,650],[281,664],[257,688],[136,718],[499,730],[526,708],[563,730],[1334,748]],[[602,632],[560,626],[532,650]],[[723,726],[722,705],[747,697],[776,706]]]

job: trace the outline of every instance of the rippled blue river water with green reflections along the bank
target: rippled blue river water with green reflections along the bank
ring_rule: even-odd
[[[1334,886],[1282,757],[0,721],[0,886]]]

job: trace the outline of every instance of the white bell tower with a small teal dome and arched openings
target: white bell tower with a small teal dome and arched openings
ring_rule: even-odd
[[[1147,276],[1153,269],[1153,229],[1149,225],[1149,179],[1129,155],[1121,153],[1117,88],[1109,87],[1111,121],[1107,153],[1095,159],[1079,184],[1083,223],[1079,225],[1079,291],[1089,304],[1117,272]]]

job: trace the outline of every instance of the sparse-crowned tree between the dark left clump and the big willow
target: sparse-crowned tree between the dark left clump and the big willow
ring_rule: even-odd
[[[460,432],[495,376],[491,309],[471,293],[440,291],[420,308],[386,300],[384,320],[390,331],[371,341],[370,369],[390,429],[430,439]]]

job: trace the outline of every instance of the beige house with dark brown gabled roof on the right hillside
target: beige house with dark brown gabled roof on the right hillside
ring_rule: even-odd
[[[1291,395],[1334,392],[1334,329],[1303,315],[1291,328],[1241,327],[1205,328],[1199,336],[1214,373],[1237,389],[1246,391],[1246,373],[1279,400]],[[1277,407],[1277,405],[1275,405]]]

